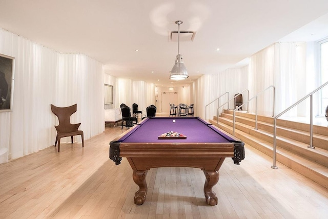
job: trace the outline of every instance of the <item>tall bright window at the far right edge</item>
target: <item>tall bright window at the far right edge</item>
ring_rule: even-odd
[[[319,84],[328,82],[328,38],[319,42]],[[328,87],[321,89],[321,102],[319,115],[324,116],[325,109],[328,106]]]

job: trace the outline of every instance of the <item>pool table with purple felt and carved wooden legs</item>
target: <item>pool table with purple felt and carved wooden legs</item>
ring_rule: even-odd
[[[181,136],[160,137],[170,131]],[[207,204],[217,205],[212,188],[219,180],[218,171],[226,157],[239,165],[244,159],[244,143],[199,117],[147,117],[110,142],[110,159],[118,165],[122,157],[129,161],[133,181],[139,186],[135,204],[142,205],[146,200],[149,169],[194,167],[206,176]]]

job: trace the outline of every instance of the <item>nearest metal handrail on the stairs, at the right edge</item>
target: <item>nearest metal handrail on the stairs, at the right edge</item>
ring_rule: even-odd
[[[310,145],[308,146],[308,148],[315,149],[315,147],[312,145],[312,140],[313,140],[313,94],[316,93],[318,90],[321,90],[326,85],[328,85],[328,82],[324,83],[323,85],[321,85],[320,87],[318,87],[317,89],[315,89],[314,91],[309,93],[308,95],[305,95],[303,98],[301,98],[295,104],[293,104],[292,106],[283,110],[281,113],[279,113],[278,115],[276,115],[274,117],[274,120],[273,120],[273,165],[271,166],[272,169],[278,169],[278,167],[276,166],[277,118],[279,116],[281,116],[282,114],[284,114],[285,112],[292,109],[293,107],[295,107],[296,105],[298,105],[299,103],[303,102],[304,99],[308,98],[309,96],[310,96],[311,104],[310,104]]]

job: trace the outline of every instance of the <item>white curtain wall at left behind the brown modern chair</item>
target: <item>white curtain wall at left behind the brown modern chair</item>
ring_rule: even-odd
[[[81,123],[85,140],[104,131],[101,63],[82,54],[60,54],[3,29],[0,53],[15,57],[13,109],[0,112],[0,148],[8,149],[7,157],[54,145],[58,121],[50,104],[77,104],[71,122]]]

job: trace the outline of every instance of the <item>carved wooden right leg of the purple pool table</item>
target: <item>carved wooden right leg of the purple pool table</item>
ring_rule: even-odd
[[[217,197],[212,188],[219,181],[219,171],[206,171],[204,170],[206,181],[204,185],[204,195],[207,204],[217,205]]]

